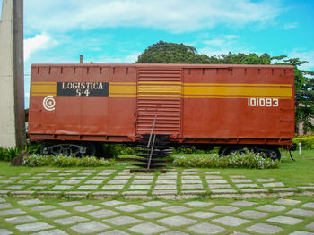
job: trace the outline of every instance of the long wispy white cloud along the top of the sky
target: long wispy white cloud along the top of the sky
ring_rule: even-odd
[[[113,27],[148,27],[186,32],[224,24],[241,27],[274,19],[279,0],[28,0],[27,29],[69,31]]]

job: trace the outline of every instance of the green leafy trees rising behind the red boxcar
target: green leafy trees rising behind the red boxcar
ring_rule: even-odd
[[[299,58],[288,59],[286,55],[271,57],[268,54],[258,56],[255,53],[227,55],[200,55],[196,48],[184,44],[160,41],[148,46],[138,56],[136,63],[227,63],[227,64],[290,64],[294,66],[295,82],[295,122],[303,123],[305,132],[314,131],[310,120],[314,118],[314,72],[299,69],[306,61]]]

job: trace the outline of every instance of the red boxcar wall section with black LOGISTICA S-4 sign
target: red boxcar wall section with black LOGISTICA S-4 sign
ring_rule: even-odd
[[[33,66],[31,140],[134,141],[135,68]]]

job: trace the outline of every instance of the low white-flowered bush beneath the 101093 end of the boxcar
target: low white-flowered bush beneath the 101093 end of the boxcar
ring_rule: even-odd
[[[267,158],[265,155],[256,155],[246,151],[245,154],[238,153],[229,156],[217,154],[178,156],[175,157],[173,164],[184,167],[268,169],[277,168],[280,162]]]

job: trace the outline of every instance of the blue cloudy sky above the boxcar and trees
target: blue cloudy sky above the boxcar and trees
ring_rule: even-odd
[[[0,4],[2,5],[0,0]],[[268,53],[314,71],[311,0],[26,0],[25,107],[32,63],[135,63],[162,40],[200,54]]]

